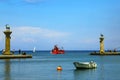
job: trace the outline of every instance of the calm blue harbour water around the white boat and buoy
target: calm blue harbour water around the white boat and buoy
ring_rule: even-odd
[[[26,51],[33,58],[0,59],[0,80],[120,80],[120,56],[95,56],[90,51]],[[77,70],[73,62],[95,61],[96,69]],[[62,71],[57,71],[57,66]]]

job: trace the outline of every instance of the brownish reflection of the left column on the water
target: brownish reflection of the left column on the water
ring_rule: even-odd
[[[11,80],[10,59],[5,59],[4,75],[5,75],[4,80]]]

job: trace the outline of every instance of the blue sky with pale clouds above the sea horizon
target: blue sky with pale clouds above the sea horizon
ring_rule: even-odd
[[[6,24],[15,50],[119,49],[120,0],[0,0],[0,49]]]

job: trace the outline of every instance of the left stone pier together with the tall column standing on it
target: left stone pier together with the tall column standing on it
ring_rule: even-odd
[[[11,58],[32,58],[32,55],[28,55],[26,54],[19,54],[19,55],[15,55],[13,53],[10,52],[10,39],[11,36],[10,34],[12,33],[12,31],[10,30],[10,27],[8,26],[8,24],[6,25],[6,30],[4,31],[5,34],[5,49],[2,52],[2,55],[0,55],[0,59],[11,59]]]

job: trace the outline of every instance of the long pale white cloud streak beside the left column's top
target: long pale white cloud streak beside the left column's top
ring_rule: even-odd
[[[21,35],[21,34],[22,36],[38,36],[39,35],[46,38],[59,38],[59,37],[65,37],[68,35],[68,33],[66,32],[59,32],[55,30],[43,29],[40,27],[30,27],[30,26],[16,27],[16,28],[13,28],[13,31],[17,35]]]

